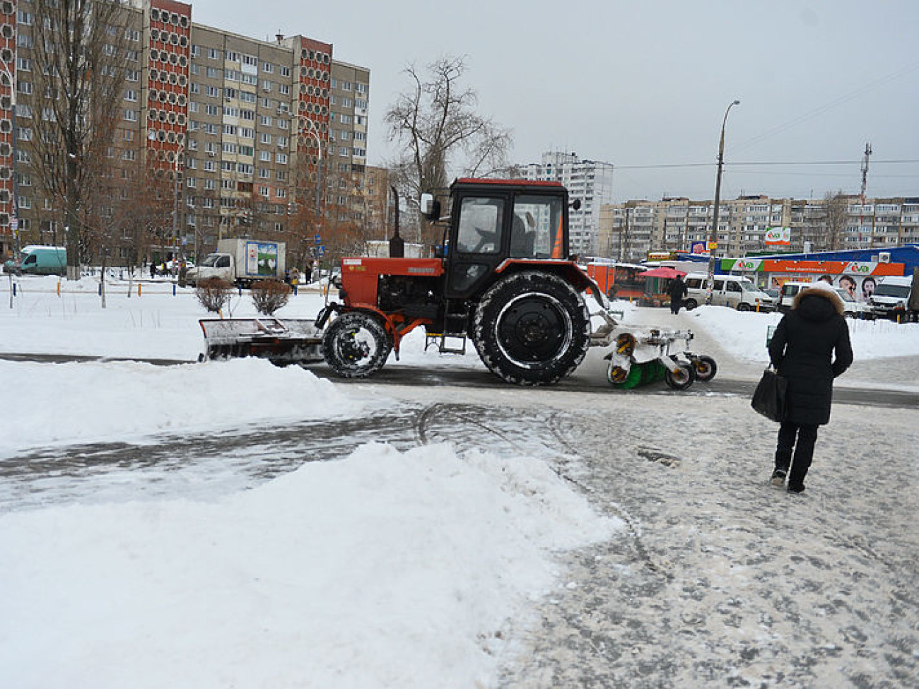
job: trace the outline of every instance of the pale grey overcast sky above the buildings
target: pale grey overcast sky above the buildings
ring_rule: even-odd
[[[617,201],[712,198],[735,98],[722,198],[857,193],[868,141],[868,196],[919,197],[917,0],[197,0],[192,18],[368,67],[369,164],[394,153],[382,117],[405,66],[465,55],[511,162],[607,161]]]

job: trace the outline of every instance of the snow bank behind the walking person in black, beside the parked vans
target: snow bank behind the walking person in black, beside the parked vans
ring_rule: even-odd
[[[684,311],[720,346],[747,361],[766,361],[766,333],[778,325],[781,313],[735,311],[722,306],[701,306]],[[857,361],[919,354],[919,323],[846,319]]]

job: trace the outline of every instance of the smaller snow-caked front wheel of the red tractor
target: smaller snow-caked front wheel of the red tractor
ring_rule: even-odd
[[[323,333],[323,358],[342,378],[366,378],[386,363],[392,338],[380,319],[365,311],[348,311]]]

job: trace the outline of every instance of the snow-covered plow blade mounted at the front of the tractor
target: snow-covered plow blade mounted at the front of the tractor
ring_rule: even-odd
[[[199,361],[259,356],[288,366],[323,360],[323,333],[309,319],[202,318],[199,323],[205,344]]]

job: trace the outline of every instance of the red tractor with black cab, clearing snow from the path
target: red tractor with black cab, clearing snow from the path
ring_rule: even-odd
[[[344,303],[330,303],[316,322],[324,326],[323,358],[336,373],[378,371],[418,326],[442,352],[462,351],[448,343],[459,339],[465,347],[471,339],[485,366],[520,385],[554,383],[572,373],[590,344],[609,343],[615,322],[607,300],[568,251],[564,186],[458,179],[449,196],[445,242],[435,257],[342,259]],[[440,220],[433,196],[423,195],[421,207],[428,220]],[[597,333],[587,289],[606,321]]]

